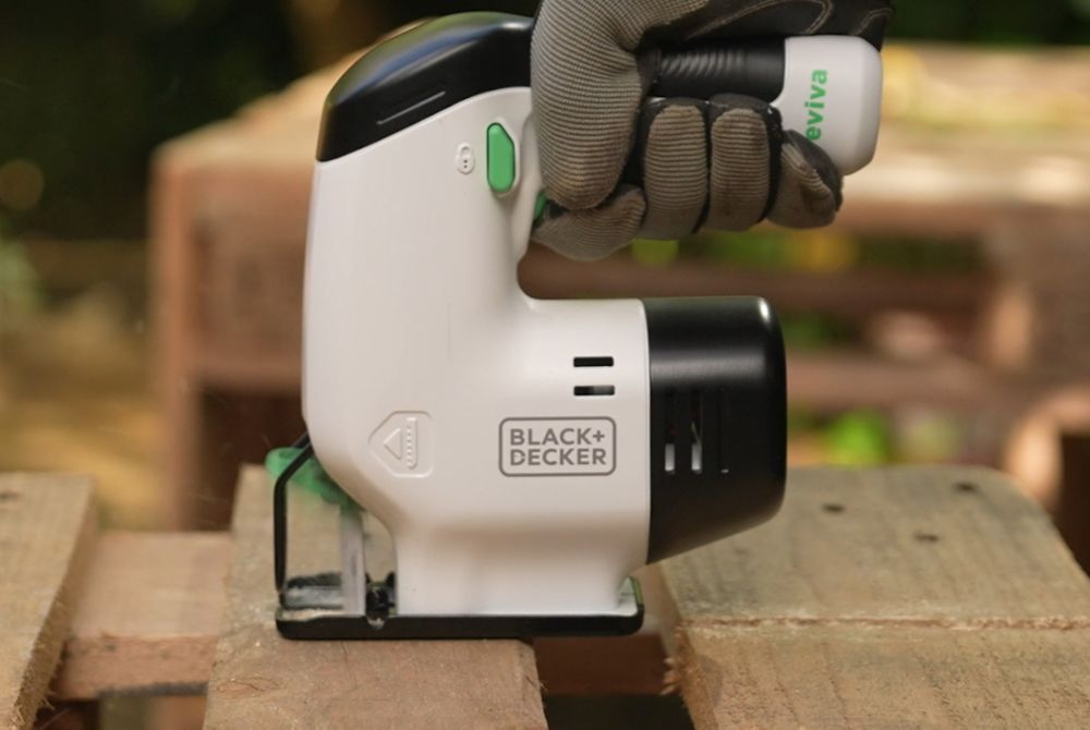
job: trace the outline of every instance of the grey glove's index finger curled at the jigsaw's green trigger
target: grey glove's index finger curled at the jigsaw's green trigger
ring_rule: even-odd
[[[631,185],[621,185],[593,210],[567,210],[550,202],[530,238],[569,258],[604,258],[635,238],[645,209],[643,193]]]

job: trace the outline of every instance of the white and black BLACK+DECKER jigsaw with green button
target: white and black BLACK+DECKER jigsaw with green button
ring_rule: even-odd
[[[533,22],[424,23],[326,100],[306,248],[307,435],[274,470],[277,625],[295,638],[621,634],[635,569],[768,519],[786,375],[755,297],[543,301],[516,267],[542,206]],[[877,136],[858,38],[663,53],[655,96],[758,96],[844,173]],[[340,572],[287,575],[287,492],[343,490]],[[336,494],[340,494],[337,491]],[[393,542],[367,570],[360,510]]]

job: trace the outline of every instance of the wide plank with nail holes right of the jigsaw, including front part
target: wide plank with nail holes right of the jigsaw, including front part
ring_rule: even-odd
[[[775,520],[661,568],[698,728],[1086,723],[1090,582],[1005,476],[789,482]]]

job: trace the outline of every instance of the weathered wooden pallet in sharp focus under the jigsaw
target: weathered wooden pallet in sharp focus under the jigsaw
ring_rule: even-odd
[[[96,535],[88,479],[0,477],[0,727],[47,688],[206,690],[207,728],[541,728],[543,692],[679,692],[697,728],[1090,722],[1090,581],[992,471],[792,472],[771,523],[643,572],[644,631],[533,644],[280,638],[270,503],[250,467],[231,533]]]

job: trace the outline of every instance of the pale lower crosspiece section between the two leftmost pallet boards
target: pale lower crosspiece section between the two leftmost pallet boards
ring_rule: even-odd
[[[102,534],[53,694],[93,699],[204,692],[223,611],[230,546],[227,533]]]

